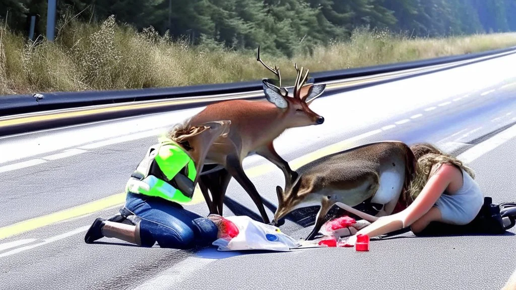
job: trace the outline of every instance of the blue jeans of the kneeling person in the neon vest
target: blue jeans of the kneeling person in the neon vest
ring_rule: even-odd
[[[152,247],[157,242],[162,248],[191,249],[211,245],[217,239],[218,229],[211,220],[162,198],[128,192],[120,213],[141,219],[143,247]]]

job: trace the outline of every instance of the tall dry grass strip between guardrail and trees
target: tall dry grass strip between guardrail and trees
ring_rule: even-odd
[[[230,51],[214,42],[190,46],[152,28],[138,33],[110,17],[103,23],[60,21],[54,43],[25,40],[0,28],[0,94],[106,90],[239,82],[272,77],[256,51]],[[295,76],[294,62],[314,71],[355,68],[480,52],[516,45],[516,34],[409,39],[357,29],[346,42],[317,47],[312,56],[262,59]]]

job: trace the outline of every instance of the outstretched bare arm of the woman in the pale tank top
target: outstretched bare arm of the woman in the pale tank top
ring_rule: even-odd
[[[394,215],[380,217],[372,224],[358,231],[356,235],[365,234],[369,237],[375,237],[409,227],[425,215],[436,203],[453,180],[453,170],[457,169],[450,165],[440,166],[437,172],[428,179],[425,187],[414,202],[405,210]],[[347,242],[349,245],[354,245],[356,235],[350,237]]]

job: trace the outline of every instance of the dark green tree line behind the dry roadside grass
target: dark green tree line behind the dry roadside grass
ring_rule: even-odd
[[[58,0],[58,17],[83,21],[114,14],[136,29],[292,56],[315,45],[349,39],[353,29],[389,29],[409,37],[440,37],[516,30],[516,0]],[[45,34],[47,0],[0,0],[0,17],[27,33],[37,14]]]

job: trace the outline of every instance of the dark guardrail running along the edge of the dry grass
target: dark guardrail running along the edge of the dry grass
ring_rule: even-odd
[[[400,62],[393,63],[390,65],[379,65],[364,68],[314,72],[311,73],[311,77],[313,79],[313,82],[315,83],[331,82],[333,80],[342,80],[377,75],[382,73],[443,65],[450,62],[471,60],[474,58],[496,55],[515,50],[516,46],[487,52],[446,56],[409,62]],[[122,102],[139,102],[172,98],[186,98],[189,96],[207,96],[214,94],[243,93],[259,90],[262,90],[261,80],[241,83],[209,84],[171,88],[147,88],[80,92],[49,92],[39,93],[37,95],[5,95],[0,96],[0,116],[24,114],[27,112],[44,110],[75,108],[80,106],[93,106]],[[42,99],[36,98],[37,96],[42,97]]]

